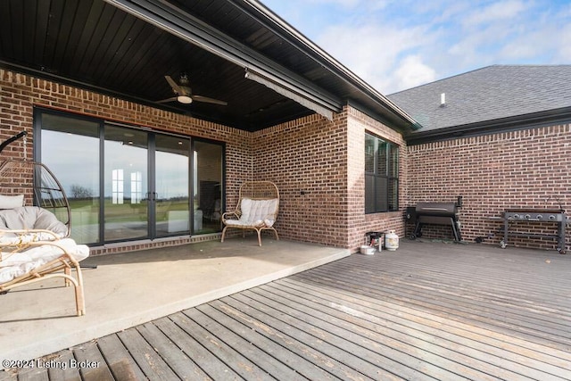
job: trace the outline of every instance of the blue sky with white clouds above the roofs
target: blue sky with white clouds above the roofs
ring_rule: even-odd
[[[384,95],[494,64],[571,64],[571,0],[261,0]]]

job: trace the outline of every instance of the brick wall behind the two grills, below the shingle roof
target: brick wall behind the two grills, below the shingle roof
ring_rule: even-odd
[[[409,203],[449,202],[463,195],[462,238],[474,242],[481,236],[484,243],[499,244],[501,223],[492,222],[490,216],[500,216],[508,208],[558,209],[559,203],[569,210],[570,150],[568,124],[412,145],[408,147]],[[555,224],[549,223],[513,227],[515,231],[556,234]],[[423,235],[452,237],[450,228],[423,228]],[[551,239],[518,238],[512,243],[557,247]]]

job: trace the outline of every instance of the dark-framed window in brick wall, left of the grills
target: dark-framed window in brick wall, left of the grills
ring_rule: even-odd
[[[365,212],[399,209],[399,146],[365,134]]]

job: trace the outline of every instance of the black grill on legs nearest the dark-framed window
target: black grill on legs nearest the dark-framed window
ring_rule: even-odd
[[[424,225],[448,225],[452,228],[454,240],[461,241],[459,224],[460,198],[458,203],[418,203],[414,207],[414,214],[409,213],[409,218],[414,221],[414,232],[410,238],[422,236]]]

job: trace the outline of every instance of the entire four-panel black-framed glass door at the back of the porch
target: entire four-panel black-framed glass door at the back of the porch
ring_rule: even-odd
[[[220,231],[223,145],[59,112],[36,120],[35,159],[70,198],[79,243]]]

